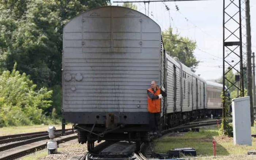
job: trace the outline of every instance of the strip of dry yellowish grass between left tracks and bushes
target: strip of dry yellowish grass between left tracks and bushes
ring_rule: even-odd
[[[10,135],[10,134],[21,134],[30,132],[41,132],[47,131],[50,125],[32,125],[32,126],[11,126],[0,128],[0,136]],[[53,125],[56,129],[61,129],[61,125]],[[66,125],[66,129],[72,128],[72,125]]]

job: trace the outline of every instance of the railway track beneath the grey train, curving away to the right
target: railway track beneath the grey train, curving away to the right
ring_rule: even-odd
[[[232,120],[229,120],[232,122]],[[162,131],[162,135],[174,132],[180,129],[216,125],[217,121],[191,122]],[[221,121],[219,121],[221,124]],[[142,143],[140,151],[135,153],[136,144],[131,142],[103,142],[95,146],[92,153],[74,156],[70,160],[147,160],[152,154],[152,145],[150,142]]]

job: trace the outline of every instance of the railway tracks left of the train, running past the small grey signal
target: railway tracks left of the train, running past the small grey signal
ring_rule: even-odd
[[[66,134],[65,136],[61,136],[60,130],[58,131],[59,132],[56,133],[57,138],[54,138],[58,142],[58,144],[77,138],[77,134],[74,134],[74,132],[72,132],[71,129],[66,130],[67,132],[65,132]],[[47,133],[47,136],[45,136],[46,133],[37,132],[37,133],[26,133],[26,134],[16,134],[11,136],[3,136],[3,137],[9,137],[9,138],[2,139],[2,140],[6,140],[6,141],[10,140],[11,142],[0,145],[0,160],[16,159],[16,158],[19,158],[19,157],[22,157],[46,148],[47,146],[46,143],[49,139],[48,133]],[[29,136],[31,136],[32,138],[26,139],[26,138],[29,138]],[[39,137],[36,137],[36,136],[39,136]],[[25,140],[22,137],[26,137]]]

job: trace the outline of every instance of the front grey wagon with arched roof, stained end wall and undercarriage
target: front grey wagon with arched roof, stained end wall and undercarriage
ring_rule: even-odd
[[[147,88],[161,81],[161,29],[125,7],[96,8],[63,29],[63,116],[78,141],[141,140]]]

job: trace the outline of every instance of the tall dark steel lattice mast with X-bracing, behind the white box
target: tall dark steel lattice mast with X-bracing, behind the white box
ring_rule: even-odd
[[[225,68],[226,66],[227,68]],[[234,83],[227,77],[227,73],[233,72],[233,70],[240,75],[239,81]],[[227,88],[225,88],[225,84]],[[238,96],[244,96],[241,0],[223,0],[223,120],[226,119],[226,107],[230,105],[227,92],[231,87],[238,89]],[[223,122],[223,130],[226,130],[226,122]]]

